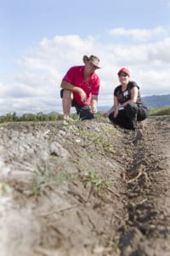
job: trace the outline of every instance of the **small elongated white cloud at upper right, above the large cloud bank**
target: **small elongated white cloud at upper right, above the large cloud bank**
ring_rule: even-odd
[[[154,29],[126,29],[118,27],[111,29],[110,34],[116,37],[132,37],[134,41],[145,42],[157,36],[166,36],[167,30],[162,26],[157,26]]]

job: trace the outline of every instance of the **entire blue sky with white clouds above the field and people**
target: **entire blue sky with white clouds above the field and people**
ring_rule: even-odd
[[[98,55],[99,106],[127,67],[141,94],[170,93],[170,0],[0,0],[0,114],[61,111],[59,85]]]

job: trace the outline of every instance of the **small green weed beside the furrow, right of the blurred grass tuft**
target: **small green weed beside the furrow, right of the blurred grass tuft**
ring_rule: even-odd
[[[94,192],[99,195],[109,187],[110,180],[99,177],[96,172],[88,172],[88,175],[82,178],[85,188],[94,188]]]

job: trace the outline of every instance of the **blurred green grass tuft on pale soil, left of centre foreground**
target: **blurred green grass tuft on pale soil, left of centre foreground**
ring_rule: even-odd
[[[52,175],[48,166],[46,166],[43,172],[39,166],[37,166],[37,172],[33,177],[32,193],[34,195],[41,194],[44,189],[52,189],[54,186],[60,186],[71,180],[71,175],[68,173],[58,173]]]

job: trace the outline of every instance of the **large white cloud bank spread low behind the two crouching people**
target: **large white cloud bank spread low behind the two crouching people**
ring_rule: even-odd
[[[153,37],[163,33],[163,28],[149,32]],[[61,79],[69,67],[82,65],[82,55],[98,55],[101,60],[102,68],[97,70],[101,79],[100,106],[112,104],[112,92],[119,83],[116,73],[121,67],[129,68],[131,79],[141,85],[143,95],[170,93],[169,49],[170,37],[148,44],[131,42],[130,46],[102,44],[99,38],[77,35],[44,38],[36,49],[20,56],[21,70],[14,81],[9,83],[7,78],[0,84],[1,113],[60,111]]]

